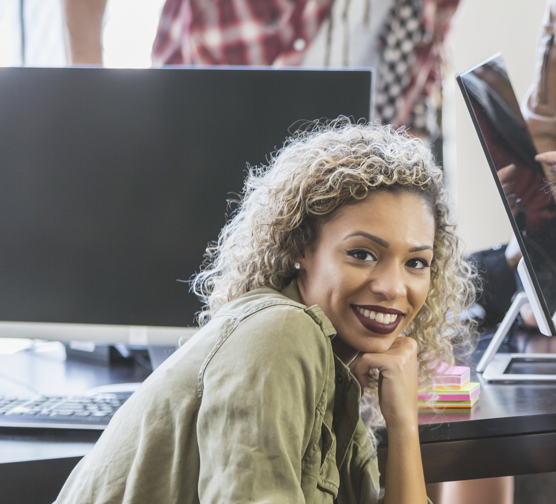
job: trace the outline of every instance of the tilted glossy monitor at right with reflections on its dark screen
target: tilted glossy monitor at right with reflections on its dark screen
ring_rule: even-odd
[[[537,152],[502,56],[489,58],[457,79],[523,254],[520,277],[539,328],[556,334],[554,190],[534,160]]]

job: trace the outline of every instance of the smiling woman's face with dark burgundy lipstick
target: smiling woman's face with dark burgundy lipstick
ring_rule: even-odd
[[[408,191],[375,192],[336,210],[299,258],[301,299],[334,325],[336,354],[383,353],[425,302],[435,222]]]

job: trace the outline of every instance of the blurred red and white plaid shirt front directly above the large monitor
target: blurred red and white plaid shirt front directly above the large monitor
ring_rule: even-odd
[[[153,65],[301,65],[331,3],[167,0]]]

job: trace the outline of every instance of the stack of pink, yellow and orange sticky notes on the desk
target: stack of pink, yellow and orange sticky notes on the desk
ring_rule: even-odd
[[[441,364],[435,372],[433,390],[419,392],[420,408],[471,408],[479,400],[480,384],[469,381],[466,366]]]

